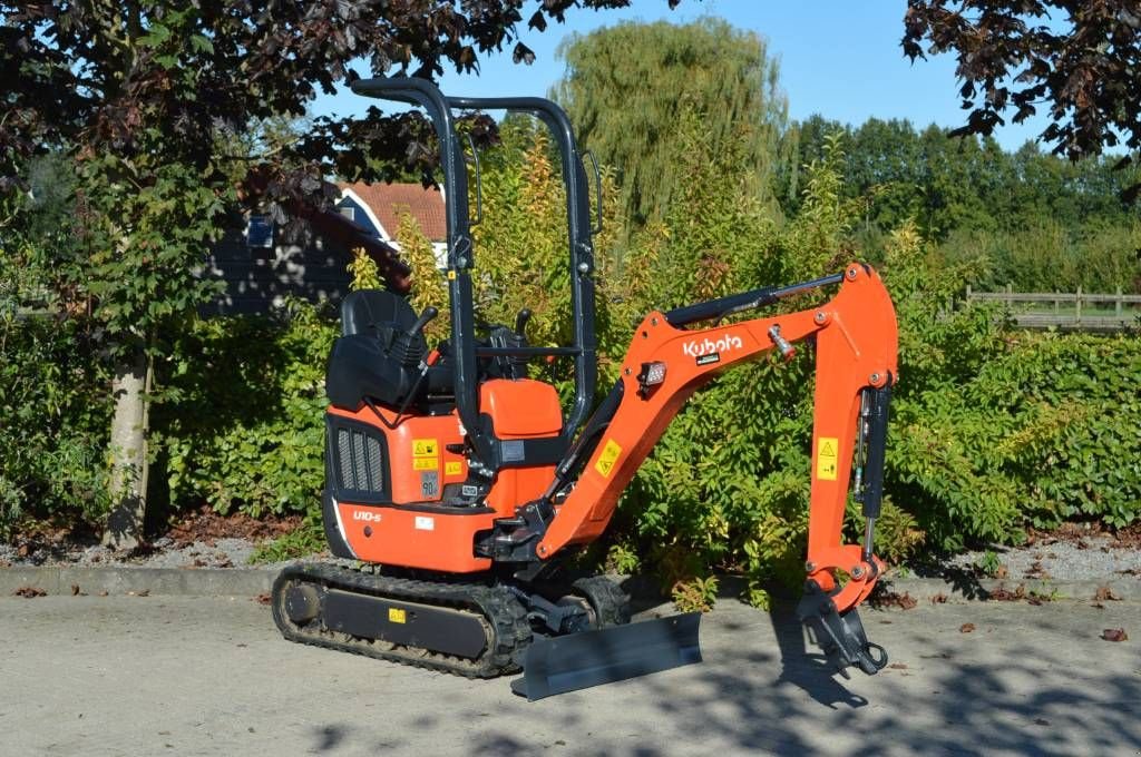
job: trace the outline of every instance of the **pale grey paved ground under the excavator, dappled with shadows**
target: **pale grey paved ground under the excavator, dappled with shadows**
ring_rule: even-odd
[[[290,644],[245,597],[5,597],[0,755],[1139,755],[1141,603],[1104,604],[866,611],[896,667],[844,681],[723,600],[705,662],[528,703]]]

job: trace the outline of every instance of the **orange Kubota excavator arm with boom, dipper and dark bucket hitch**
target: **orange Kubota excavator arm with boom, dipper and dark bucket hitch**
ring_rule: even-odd
[[[840,291],[817,308],[687,328],[830,284],[840,284]],[[868,266],[852,263],[842,274],[815,282],[646,316],[610,397],[557,470],[551,494],[572,481],[573,486],[564,489],[565,499],[535,547],[537,556],[549,559],[606,529],[622,490],[695,391],[770,350],[791,358],[796,344],[810,339],[816,341],[816,393],[808,577],[799,611],[841,669],[857,665],[874,673],[882,667],[887,658],[867,642],[855,608],[867,599],[883,570],[872,552],[872,538],[897,375],[897,326],[891,299]],[[864,543],[858,545],[842,543],[850,490],[867,519]]]

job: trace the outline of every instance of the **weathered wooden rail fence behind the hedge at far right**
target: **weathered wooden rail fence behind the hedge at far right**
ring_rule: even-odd
[[[1021,328],[1118,332],[1141,327],[1141,294],[1077,292],[973,292],[966,302],[1002,302]]]

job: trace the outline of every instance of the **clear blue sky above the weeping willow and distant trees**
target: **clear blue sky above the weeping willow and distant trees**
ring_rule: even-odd
[[[563,73],[555,50],[570,33],[585,33],[621,21],[666,19],[686,23],[702,15],[720,16],[738,29],[751,30],[768,42],[780,62],[780,81],[793,119],[819,113],[859,124],[869,116],[909,119],[919,127],[937,123],[957,127],[965,121],[958,108],[954,59],[939,56],[912,65],[899,47],[905,0],[682,0],[670,10],[665,0],[636,0],[623,10],[567,11],[566,24],[551,24],[543,33],[520,29],[520,38],[535,51],[531,66],[511,62],[510,48],[485,56],[479,75],[448,72],[440,86],[450,95],[545,95]],[[531,10],[525,8],[525,17]],[[357,71],[367,75],[366,64]],[[319,97],[315,115],[363,113],[374,100],[351,92]],[[1008,123],[995,132],[1006,149],[1017,149],[1045,127],[1038,117],[1025,124]]]

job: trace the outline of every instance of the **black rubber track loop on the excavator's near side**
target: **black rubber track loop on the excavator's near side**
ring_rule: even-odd
[[[330,630],[324,627],[319,617],[299,627],[289,619],[284,610],[284,588],[292,581],[464,610],[484,620],[485,630],[491,632],[491,637],[483,654],[469,659]],[[523,653],[531,642],[531,625],[523,605],[502,586],[395,578],[337,565],[301,564],[285,568],[274,580],[272,607],[274,622],[289,641],[467,678],[493,678],[520,670]]]

